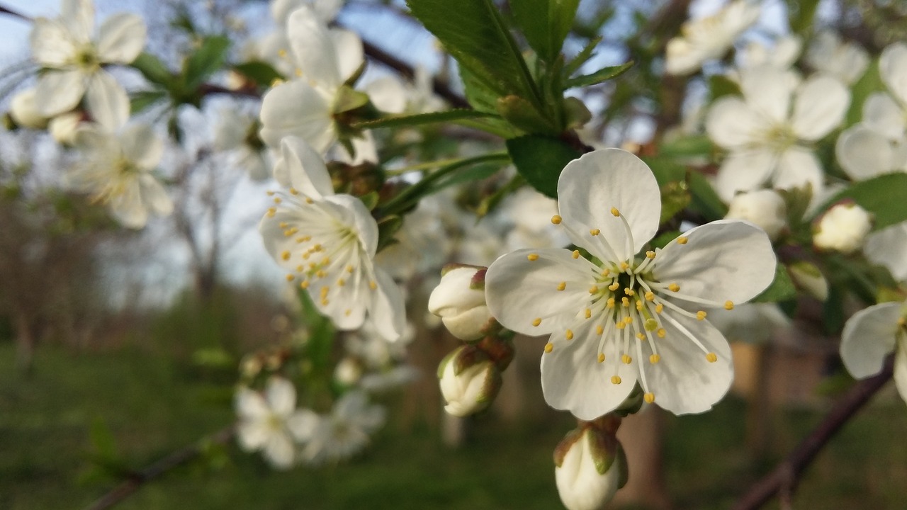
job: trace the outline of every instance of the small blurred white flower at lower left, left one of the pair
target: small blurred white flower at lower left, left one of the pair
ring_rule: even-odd
[[[293,466],[297,441],[305,441],[317,424],[315,413],[296,408],[296,387],[284,378],[270,378],[265,395],[248,387],[236,394],[237,438],[246,451],[261,450],[278,469]]]

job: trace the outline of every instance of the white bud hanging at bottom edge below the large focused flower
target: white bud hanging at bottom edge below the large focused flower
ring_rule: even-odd
[[[599,510],[627,483],[627,457],[613,432],[584,424],[554,450],[554,480],[569,510]]]

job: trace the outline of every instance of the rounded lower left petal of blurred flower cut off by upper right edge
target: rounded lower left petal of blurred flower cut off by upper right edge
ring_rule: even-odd
[[[844,172],[855,181],[870,179],[893,169],[891,142],[863,124],[856,124],[841,133],[834,146],[834,155]]]

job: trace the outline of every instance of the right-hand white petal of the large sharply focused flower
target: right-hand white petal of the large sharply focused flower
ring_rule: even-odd
[[[687,243],[678,243],[681,238]],[[657,253],[656,280],[677,283],[679,294],[717,303],[753,299],[775,278],[772,242],[746,221],[712,221],[684,232]]]

